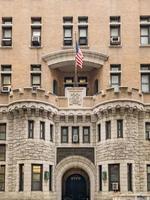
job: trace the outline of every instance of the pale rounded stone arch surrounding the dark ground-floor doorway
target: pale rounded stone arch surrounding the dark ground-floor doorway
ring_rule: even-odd
[[[65,159],[63,159],[56,167],[55,171],[55,180],[56,180],[56,196],[57,200],[62,200],[62,181],[64,180],[64,177],[67,173],[71,173],[70,175],[73,175],[75,171],[72,171],[72,169],[77,170],[76,172],[80,172],[79,175],[83,176],[85,180],[87,180],[87,177],[89,179],[89,187],[90,187],[90,195],[89,199],[94,200],[94,195],[96,191],[96,168],[94,164],[88,160],[87,158],[84,158],[82,156],[69,156]]]

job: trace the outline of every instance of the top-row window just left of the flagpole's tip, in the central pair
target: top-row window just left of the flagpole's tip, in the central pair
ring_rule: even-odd
[[[72,46],[72,29],[73,29],[73,18],[63,18],[63,30],[64,30],[64,46]]]

